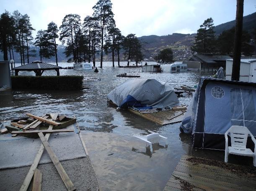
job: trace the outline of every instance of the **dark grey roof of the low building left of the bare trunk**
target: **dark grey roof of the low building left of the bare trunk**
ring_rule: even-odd
[[[229,55],[216,55],[216,54],[197,54],[189,60],[204,62],[204,63],[217,63],[218,61],[225,61],[231,59]]]

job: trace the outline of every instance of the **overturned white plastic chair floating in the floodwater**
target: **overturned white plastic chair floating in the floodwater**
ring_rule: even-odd
[[[153,153],[153,147],[152,144],[153,143],[159,143],[160,139],[165,141],[165,145],[167,145],[167,137],[164,136],[160,136],[159,133],[155,133],[153,131],[149,131],[151,134],[148,135],[137,135],[137,134],[132,134],[132,136],[140,138],[141,140],[146,142],[146,146],[147,144],[150,145],[150,151],[151,153]]]

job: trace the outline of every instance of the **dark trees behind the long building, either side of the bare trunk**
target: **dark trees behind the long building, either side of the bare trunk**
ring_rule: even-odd
[[[191,49],[197,53],[233,55],[235,27],[224,30],[219,36],[215,36],[213,25],[212,18],[204,20],[204,23],[200,25],[200,28],[197,30],[195,43]],[[251,36],[248,31],[243,30],[241,45],[241,53],[243,55],[253,54],[254,47],[250,45],[250,40],[254,38],[255,36]]]

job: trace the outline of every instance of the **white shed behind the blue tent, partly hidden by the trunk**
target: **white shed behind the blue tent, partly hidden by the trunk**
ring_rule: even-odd
[[[226,80],[231,80],[233,59],[226,60]],[[240,78],[243,82],[256,82],[256,59],[241,59]]]

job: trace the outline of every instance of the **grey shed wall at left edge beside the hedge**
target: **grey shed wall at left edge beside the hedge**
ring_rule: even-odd
[[[0,61],[0,90],[11,88],[9,61]]]

